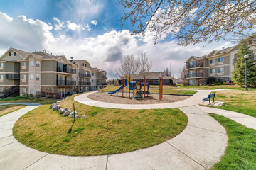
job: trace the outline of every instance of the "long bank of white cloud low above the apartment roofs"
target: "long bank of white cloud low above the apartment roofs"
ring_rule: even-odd
[[[54,21],[60,21],[55,18]],[[63,21],[60,21],[60,23]],[[54,55],[73,56],[75,59],[85,59],[92,67],[106,69],[110,78],[114,78],[114,69],[125,55],[137,56],[142,52],[153,62],[152,71],[162,71],[172,64],[172,73],[178,74],[178,70],[184,65],[184,61],[191,55],[201,56],[221,47],[225,42],[203,47],[189,45],[182,47],[176,44],[176,40],[159,42],[154,45],[151,34],[131,35],[129,30],[112,30],[95,37],[85,37],[79,34],[79,30],[89,30],[88,25],[79,25],[67,21],[67,29],[78,30],[78,35],[70,35],[61,32],[53,35],[53,26],[40,20],[18,16],[11,18],[5,13],[0,13],[0,52],[4,53],[9,47],[33,52],[34,50],[47,50]],[[64,27],[65,25],[63,25]],[[56,26],[54,27],[54,29]],[[55,31],[60,31],[55,30]],[[75,32],[76,33],[76,32]]]

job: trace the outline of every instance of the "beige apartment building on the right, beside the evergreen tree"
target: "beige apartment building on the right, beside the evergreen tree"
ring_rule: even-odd
[[[251,38],[242,40],[250,46],[252,52],[256,52],[254,41]],[[191,56],[186,63],[186,71],[189,85],[200,85],[200,79],[206,79],[208,84],[210,77],[215,81],[231,81],[231,74],[234,70],[236,54],[241,43],[233,47],[223,47],[222,50],[213,50],[208,55],[201,57]]]

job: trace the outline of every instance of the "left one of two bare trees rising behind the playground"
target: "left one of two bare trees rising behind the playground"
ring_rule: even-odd
[[[133,55],[127,55],[124,57],[124,60],[121,62],[119,67],[115,69],[117,77],[126,77],[129,78],[131,75],[137,73],[138,63],[135,60]]]

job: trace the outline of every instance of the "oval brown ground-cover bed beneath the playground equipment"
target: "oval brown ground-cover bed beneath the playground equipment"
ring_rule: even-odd
[[[143,95],[144,97],[144,95]],[[108,92],[97,92],[94,94],[90,94],[87,98],[90,98],[95,101],[103,101],[107,103],[120,103],[120,104],[154,104],[154,103],[171,103],[176,101],[183,101],[190,96],[176,96],[176,95],[164,95],[164,98],[160,101],[159,94],[151,94],[143,100],[136,100],[131,96],[129,98],[129,94],[124,94],[124,98],[122,98],[122,93],[117,94],[108,94]]]

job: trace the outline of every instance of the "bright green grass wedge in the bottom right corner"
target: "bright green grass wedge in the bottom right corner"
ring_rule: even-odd
[[[213,169],[256,169],[256,130],[221,115],[211,114],[228,132],[225,155]]]

